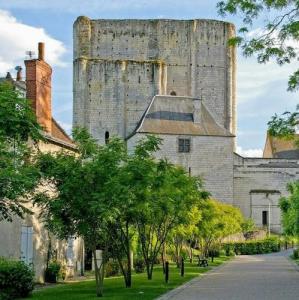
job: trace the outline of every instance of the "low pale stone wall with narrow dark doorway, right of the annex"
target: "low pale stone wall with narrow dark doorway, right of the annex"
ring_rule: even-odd
[[[280,232],[279,199],[289,182],[298,180],[296,160],[234,158],[234,205],[262,226],[262,211],[270,216],[271,230]]]

